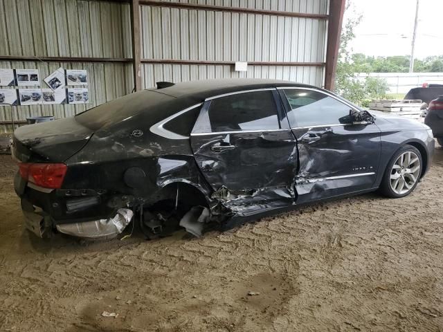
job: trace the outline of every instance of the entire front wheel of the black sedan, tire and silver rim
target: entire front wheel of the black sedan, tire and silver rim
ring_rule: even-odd
[[[380,185],[381,194],[393,199],[408,196],[417,187],[422,169],[420,151],[411,145],[404,145],[386,166]]]

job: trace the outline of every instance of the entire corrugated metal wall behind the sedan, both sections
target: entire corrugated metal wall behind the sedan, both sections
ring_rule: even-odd
[[[174,2],[174,1],[172,1]],[[327,14],[328,0],[177,0],[175,2]],[[141,57],[222,62],[325,62],[327,21],[302,17],[141,6]],[[35,61],[0,61],[0,68],[38,68],[44,77],[62,66],[87,69],[89,104],[14,107],[15,119],[71,116],[130,93],[130,63],[44,62],[38,57],[130,58],[127,3],[87,0],[0,0],[0,55],[35,56]],[[323,66],[142,64],[143,88],[158,81],[264,77],[323,85]],[[0,107],[0,121],[11,120]],[[12,127],[2,126],[1,131]]]

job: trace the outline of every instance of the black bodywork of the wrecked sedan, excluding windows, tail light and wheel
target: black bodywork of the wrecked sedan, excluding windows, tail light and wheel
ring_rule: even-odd
[[[288,100],[277,89],[294,86],[327,93],[290,82],[191,82],[17,129],[12,153],[19,162],[67,166],[57,189],[38,187],[17,174],[16,192],[26,214],[33,214],[26,225],[44,236],[49,228],[113,219],[119,209],[143,214],[166,200],[173,203],[169,210],[179,211],[179,201],[186,201],[186,211],[201,206],[200,216],[206,207],[210,218],[205,222],[219,216],[217,223],[224,223],[232,216],[375,190],[390,156],[405,142],[424,151],[426,172],[433,150],[426,126],[377,116],[372,124],[297,127],[291,123]],[[275,129],[199,130],[215,95],[263,89],[274,98]],[[163,120],[186,114],[183,110],[195,110],[186,124],[189,132],[165,131]],[[148,215],[145,219],[152,219]],[[188,219],[181,223],[195,234],[201,230]],[[147,225],[161,222],[147,220]]]

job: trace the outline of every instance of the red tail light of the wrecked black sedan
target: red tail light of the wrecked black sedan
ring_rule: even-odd
[[[60,189],[68,167],[64,164],[19,163],[19,173],[26,181],[44,188]]]

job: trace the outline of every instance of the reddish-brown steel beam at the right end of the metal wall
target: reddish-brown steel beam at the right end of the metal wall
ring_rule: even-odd
[[[334,90],[338,48],[340,48],[341,24],[343,23],[344,12],[345,0],[329,0],[325,68],[325,89],[329,91]]]

